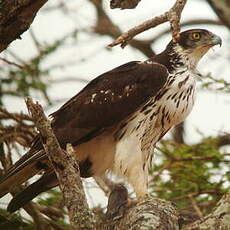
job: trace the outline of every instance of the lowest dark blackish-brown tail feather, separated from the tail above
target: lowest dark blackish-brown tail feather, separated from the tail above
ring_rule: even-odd
[[[57,185],[58,179],[55,172],[52,170],[49,173],[45,173],[39,180],[29,185],[25,190],[15,196],[10,201],[7,211],[11,213],[15,212],[40,193],[45,192]]]

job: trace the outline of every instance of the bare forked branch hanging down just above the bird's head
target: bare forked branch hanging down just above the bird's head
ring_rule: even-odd
[[[173,39],[176,40],[179,36],[180,31],[180,17],[181,12],[184,9],[187,0],[176,0],[176,3],[173,7],[160,16],[156,16],[153,19],[147,20],[144,23],[135,26],[129,31],[123,33],[120,37],[118,37],[114,42],[109,44],[109,47],[113,47],[121,44],[121,47],[124,48],[129,40],[131,40],[137,34],[140,34],[150,28],[156,27],[164,22],[169,21],[172,29]]]

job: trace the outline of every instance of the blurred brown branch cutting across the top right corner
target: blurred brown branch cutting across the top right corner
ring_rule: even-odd
[[[219,19],[230,30],[230,1],[229,0],[207,0]]]

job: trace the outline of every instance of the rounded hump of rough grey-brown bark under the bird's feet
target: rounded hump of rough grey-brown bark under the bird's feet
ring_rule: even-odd
[[[179,230],[179,214],[169,201],[151,198],[127,210],[123,218],[110,221],[107,230]]]

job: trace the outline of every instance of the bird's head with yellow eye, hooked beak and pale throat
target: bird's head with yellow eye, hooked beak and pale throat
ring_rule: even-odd
[[[180,33],[178,40],[171,41],[169,45],[179,56],[187,58],[192,67],[196,67],[211,47],[221,46],[221,43],[221,38],[208,30],[192,29]]]

